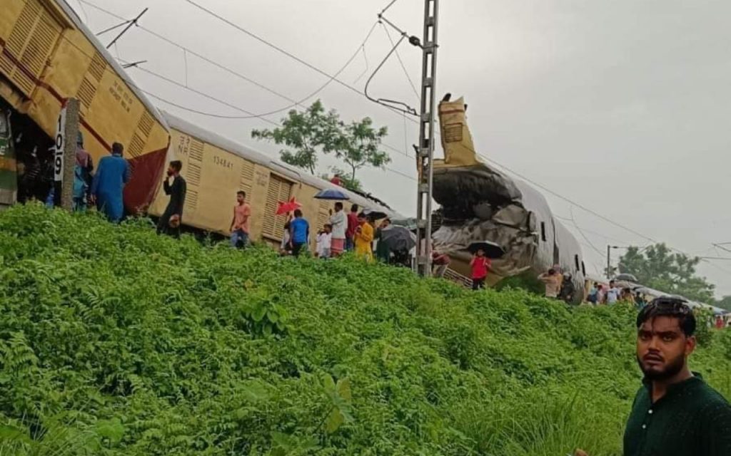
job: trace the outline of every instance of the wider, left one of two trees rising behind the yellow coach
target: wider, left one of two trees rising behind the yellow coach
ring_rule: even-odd
[[[290,149],[279,151],[281,160],[315,174],[318,152],[333,152],[341,142],[341,125],[338,113],[325,112],[322,102],[317,100],[303,112],[289,111],[281,127],[253,130],[251,137],[286,145]]]

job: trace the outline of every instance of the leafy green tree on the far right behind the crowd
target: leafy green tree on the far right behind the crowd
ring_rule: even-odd
[[[695,275],[698,263],[700,258],[673,253],[665,244],[656,244],[644,250],[629,247],[619,259],[619,271],[656,290],[710,304],[715,285]]]

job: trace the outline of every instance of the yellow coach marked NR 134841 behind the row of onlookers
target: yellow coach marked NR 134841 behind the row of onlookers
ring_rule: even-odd
[[[325,188],[338,188],[346,193],[349,197],[346,210],[350,204],[358,204],[362,208],[378,209],[392,217],[400,217],[391,209],[357,193],[300,172],[167,112],[162,112],[162,115],[170,125],[168,161],[180,160],[183,163],[181,175],[187,182],[184,225],[227,235],[238,190],[246,192],[246,201],[251,204],[251,239],[271,244],[279,244],[287,221],[286,216],[275,215],[280,201],[294,197],[302,204],[303,215],[313,230],[327,223],[334,201],[314,198]],[[162,187],[162,179],[157,182]],[[164,192],[158,192],[149,213],[159,217],[168,201],[169,197]],[[314,236],[311,239],[314,241]]]

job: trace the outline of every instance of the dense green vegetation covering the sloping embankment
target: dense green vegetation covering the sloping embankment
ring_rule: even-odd
[[[0,455],[618,455],[634,311],[0,213]],[[731,337],[692,366],[731,394]]]

